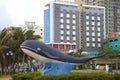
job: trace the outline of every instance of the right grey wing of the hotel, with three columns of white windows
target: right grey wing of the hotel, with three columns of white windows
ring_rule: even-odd
[[[83,5],[82,11],[82,49],[97,53],[103,49],[105,38],[105,7]]]

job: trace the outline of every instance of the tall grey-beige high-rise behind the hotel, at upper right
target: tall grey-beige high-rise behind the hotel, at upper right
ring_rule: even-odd
[[[106,8],[106,34],[120,31],[120,0],[88,0],[88,4]]]

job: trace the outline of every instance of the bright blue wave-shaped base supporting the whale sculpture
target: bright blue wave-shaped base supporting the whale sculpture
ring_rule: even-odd
[[[50,74],[50,75],[59,75],[59,74],[69,74],[72,70],[72,65],[70,63],[64,62],[64,63],[53,63],[48,62],[44,64],[44,71],[42,73],[44,75]]]

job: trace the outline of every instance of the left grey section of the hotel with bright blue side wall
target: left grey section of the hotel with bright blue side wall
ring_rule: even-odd
[[[44,10],[45,43],[79,43],[79,18],[77,4],[53,1]]]

